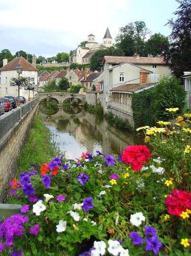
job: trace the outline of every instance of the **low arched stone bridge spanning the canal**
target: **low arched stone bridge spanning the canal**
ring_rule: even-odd
[[[78,100],[77,103],[81,103],[84,104],[85,103],[85,94],[71,94],[71,93],[62,93],[62,92],[58,92],[58,93],[39,93],[38,94],[38,98],[39,101],[41,101],[42,99],[46,99],[46,98],[54,98],[57,103],[59,103],[60,105],[63,104],[64,100],[66,99],[76,99]]]

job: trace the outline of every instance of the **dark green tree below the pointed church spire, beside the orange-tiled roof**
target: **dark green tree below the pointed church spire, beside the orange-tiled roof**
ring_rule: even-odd
[[[110,55],[110,56],[124,56],[124,52],[119,49],[115,48],[114,46],[111,46],[109,48],[99,50],[96,53],[92,55],[90,58],[90,69],[91,70],[100,70],[101,64],[103,61],[104,56]]]

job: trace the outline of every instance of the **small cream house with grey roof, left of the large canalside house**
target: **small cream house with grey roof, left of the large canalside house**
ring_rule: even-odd
[[[85,76],[85,79],[81,81],[81,85],[85,86],[85,88],[92,90],[93,85],[96,86],[97,83],[102,81],[104,78],[104,73],[102,72],[94,72],[88,76]]]

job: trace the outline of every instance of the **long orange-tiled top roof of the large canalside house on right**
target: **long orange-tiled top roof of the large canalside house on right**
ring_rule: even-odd
[[[104,56],[102,64],[104,63],[133,63],[133,64],[165,64],[162,57],[131,57],[131,56]]]

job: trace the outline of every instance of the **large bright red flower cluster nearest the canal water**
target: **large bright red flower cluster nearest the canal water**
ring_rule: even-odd
[[[134,171],[139,171],[143,164],[149,162],[151,154],[149,149],[144,145],[130,145],[122,153],[121,159],[123,162],[132,164]]]

